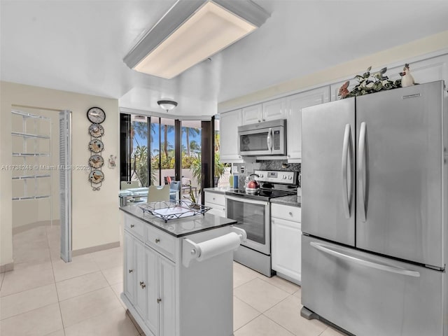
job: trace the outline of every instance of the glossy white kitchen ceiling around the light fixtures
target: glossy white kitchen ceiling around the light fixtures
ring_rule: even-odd
[[[183,0],[181,0],[183,1]],[[448,1],[254,0],[260,29],[171,80],[123,57],[176,0],[1,0],[0,79],[208,116],[219,102],[448,30]]]

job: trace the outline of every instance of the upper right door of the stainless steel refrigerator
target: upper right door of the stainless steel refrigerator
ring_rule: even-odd
[[[356,246],[444,267],[443,82],[356,99]]]

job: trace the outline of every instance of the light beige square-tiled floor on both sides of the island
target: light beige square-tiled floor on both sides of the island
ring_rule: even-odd
[[[123,249],[59,258],[59,228],[14,235],[15,269],[0,274],[0,335],[144,335],[120,300]],[[341,336],[300,316],[300,286],[234,263],[235,336]],[[198,335],[211,336],[211,335]]]

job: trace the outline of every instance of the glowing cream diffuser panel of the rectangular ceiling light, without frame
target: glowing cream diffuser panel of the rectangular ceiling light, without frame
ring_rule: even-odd
[[[134,70],[174,78],[255,29],[255,25],[208,1],[149,52]]]

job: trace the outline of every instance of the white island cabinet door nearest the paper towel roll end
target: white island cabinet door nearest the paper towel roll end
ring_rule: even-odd
[[[159,257],[159,299],[160,336],[176,335],[175,267],[172,262],[162,257]]]

